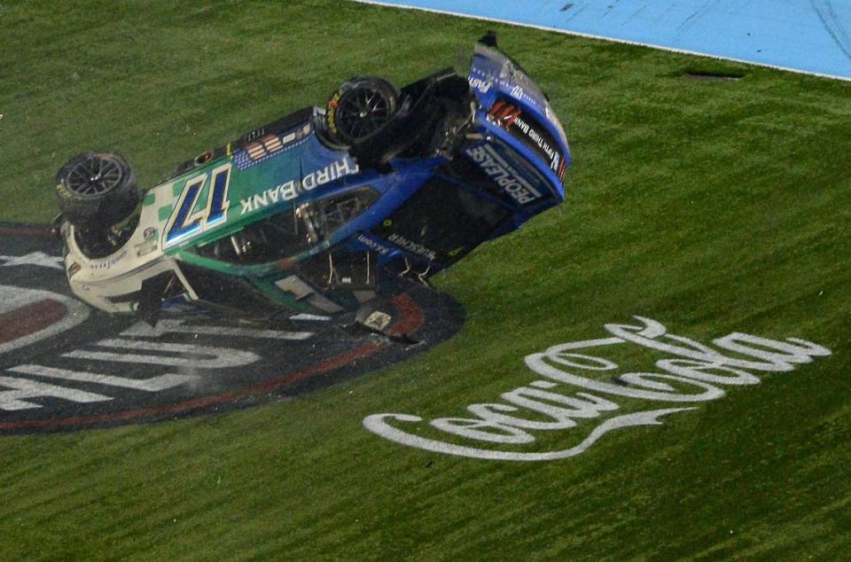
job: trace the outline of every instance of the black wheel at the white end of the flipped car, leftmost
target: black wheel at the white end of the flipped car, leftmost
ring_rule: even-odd
[[[82,230],[107,230],[126,221],[141,197],[132,168],[114,152],[80,154],[56,174],[59,210]]]

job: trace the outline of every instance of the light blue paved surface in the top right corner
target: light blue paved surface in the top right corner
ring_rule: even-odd
[[[544,27],[851,80],[851,0],[365,0],[365,3]]]

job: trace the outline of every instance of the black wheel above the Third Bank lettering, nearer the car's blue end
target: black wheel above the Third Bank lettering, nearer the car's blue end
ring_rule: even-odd
[[[338,144],[363,142],[393,118],[398,103],[399,90],[383,78],[352,78],[328,101],[328,132]]]

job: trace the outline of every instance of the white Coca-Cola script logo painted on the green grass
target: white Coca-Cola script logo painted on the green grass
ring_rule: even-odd
[[[472,441],[470,444],[429,439],[391,425],[391,422],[418,424],[425,421],[408,414],[375,414],[365,418],[363,425],[390,441],[447,455],[509,461],[556,460],[581,455],[605,433],[636,425],[661,425],[660,418],[664,416],[695,409],[694,406],[653,408],[613,415],[621,410],[621,404],[614,402],[614,398],[681,404],[707,402],[722,398],[723,386],[759,384],[760,379],[754,373],[789,372],[796,365],[811,363],[814,357],[831,355],[829,349],[806,340],[769,340],[740,332],[713,340],[722,352],[670,334],[664,325],[650,318],[636,316],[636,320],[639,324],[605,324],[606,332],[611,334],[609,338],[564,343],[543,353],[527,355],[527,367],[543,379],[500,394],[503,402],[468,406],[470,418],[436,418],[429,422],[433,429],[454,436],[451,438],[454,441],[461,438]],[[599,374],[618,369],[618,365],[608,359],[577,352],[623,344],[673,357],[655,363],[661,372],[628,372],[613,378],[614,382],[576,374],[579,371]],[[582,392],[569,394],[576,388]],[[691,391],[682,392],[683,388]],[[535,419],[525,417],[523,410],[531,410],[528,414],[534,413]],[[547,419],[542,421],[542,418]],[[588,425],[580,427],[576,421],[597,418],[599,423],[588,433],[585,433]],[[529,445],[536,441],[535,432],[565,430],[582,430],[584,437],[570,449],[547,452],[488,448],[488,444]]]

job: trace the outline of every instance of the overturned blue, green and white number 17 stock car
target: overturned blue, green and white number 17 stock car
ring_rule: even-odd
[[[179,302],[255,317],[333,315],[426,283],[564,199],[566,137],[543,92],[496,47],[467,76],[401,90],[343,83],[141,191],[126,160],[59,169],[67,277],[107,312],[155,321]],[[377,299],[378,297],[378,299]]]

